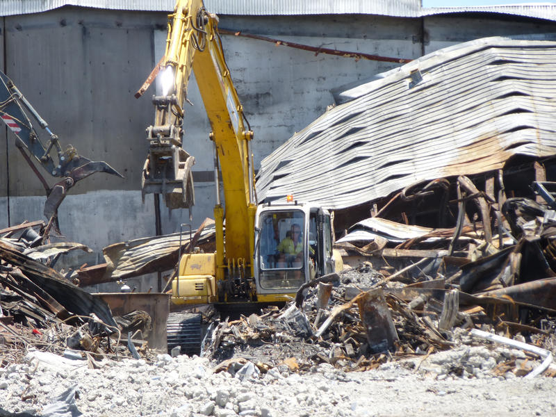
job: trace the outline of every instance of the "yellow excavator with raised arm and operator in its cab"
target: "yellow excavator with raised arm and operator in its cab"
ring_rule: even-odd
[[[224,60],[218,17],[208,13],[202,0],[177,1],[168,16],[165,56],[158,69],[163,94],[154,97],[155,124],[147,129],[143,193],[163,194],[169,208],[194,202],[193,156],[181,147],[191,70],[215,149],[216,251],[181,256],[172,302],[211,303],[220,309],[276,304],[295,297],[310,279],[341,268],[341,258],[332,250],[327,210],[291,196],[280,204],[257,204],[253,132]],[[220,201],[219,165],[225,207]]]

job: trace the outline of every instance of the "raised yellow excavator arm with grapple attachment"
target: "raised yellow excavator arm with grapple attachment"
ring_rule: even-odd
[[[250,129],[224,60],[218,17],[208,13],[202,0],[178,0],[168,17],[165,56],[160,70],[163,94],[153,97],[155,123],[147,128],[149,158],[143,175],[143,194],[165,195],[169,208],[193,204],[193,156],[182,149],[183,104],[187,101],[191,71],[211,124],[209,138],[220,164],[226,202],[226,239],[222,236],[224,208],[217,190],[215,223],[218,278],[226,270],[252,267],[256,195],[250,151]],[[154,78],[154,74],[149,77]],[[149,83],[149,80],[147,80]],[[138,95],[144,91],[145,85]],[[138,96],[136,95],[136,97]],[[192,140],[189,138],[188,140]],[[217,165],[217,163],[215,163]],[[218,187],[218,178],[217,178]],[[225,254],[225,260],[224,260]],[[252,270],[249,272],[252,275]]]

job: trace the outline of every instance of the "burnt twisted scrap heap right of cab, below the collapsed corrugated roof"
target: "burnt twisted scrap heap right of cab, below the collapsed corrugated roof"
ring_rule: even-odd
[[[546,369],[556,353],[556,211],[525,197],[499,208],[466,177],[458,183],[456,227],[361,222],[337,244],[357,267],[300,288],[284,309],[220,322],[206,352],[228,359],[223,369],[249,360],[261,370],[322,362],[367,370],[498,338],[528,352],[529,363],[507,357],[494,374],[554,375]],[[483,222],[468,218],[473,207]]]

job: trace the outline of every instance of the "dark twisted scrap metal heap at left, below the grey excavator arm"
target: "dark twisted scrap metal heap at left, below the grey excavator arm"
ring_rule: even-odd
[[[105,356],[148,355],[145,341],[132,336],[148,334],[148,316],[134,311],[113,317],[106,302],[52,268],[60,254],[88,248],[41,245],[43,236],[33,227],[44,230],[44,222],[0,231],[0,367],[21,359],[29,347],[82,357],[90,366]]]

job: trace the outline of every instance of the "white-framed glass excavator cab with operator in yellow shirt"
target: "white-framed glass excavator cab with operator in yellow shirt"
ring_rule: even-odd
[[[330,214],[312,204],[262,204],[255,220],[259,301],[292,294],[310,279],[334,272]]]

